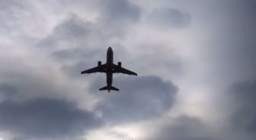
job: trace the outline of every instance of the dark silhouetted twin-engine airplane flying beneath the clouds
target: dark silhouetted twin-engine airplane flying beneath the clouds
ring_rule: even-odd
[[[107,50],[107,62],[105,64],[101,64],[101,61],[98,61],[98,66],[82,71],[81,74],[85,73],[96,73],[96,72],[105,72],[107,76],[107,86],[100,88],[99,90],[116,90],[119,91],[118,88],[112,86],[113,73],[123,73],[128,75],[136,75],[137,73],[127,70],[121,67],[122,63],[118,62],[117,65],[113,63],[113,50],[111,47]]]

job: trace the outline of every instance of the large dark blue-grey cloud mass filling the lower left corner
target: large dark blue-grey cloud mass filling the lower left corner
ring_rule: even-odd
[[[15,65],[19,71],[10,67],[1,71],[1,132],[11,133],[18,140],[75,139],[86,130],[103,125],[94,112],[68,101],[70,98],[64,96],[74,93],[56,85],[52,75],[43,76],[34,68],[20,65],[23,64]]]

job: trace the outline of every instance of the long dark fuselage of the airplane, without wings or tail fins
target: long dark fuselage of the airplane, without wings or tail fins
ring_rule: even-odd
[[[111,86],[113,80],[113,50],[111,47],[109,47],[107,51],[106,76],[107,85]]]

